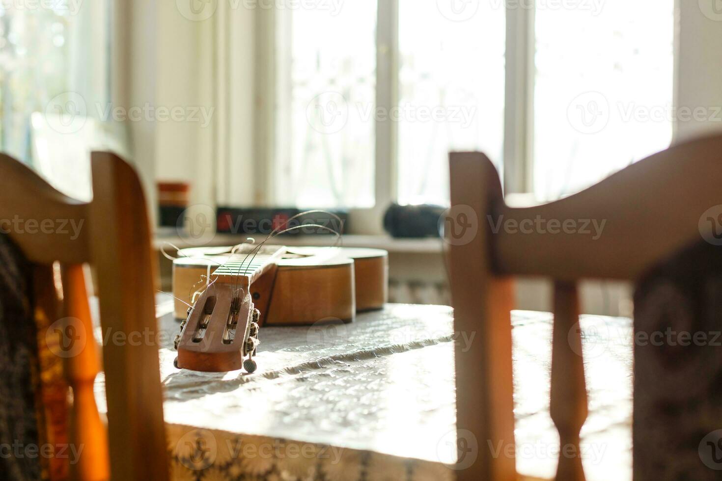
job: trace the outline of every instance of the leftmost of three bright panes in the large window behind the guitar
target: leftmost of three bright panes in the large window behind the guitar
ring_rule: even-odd
[[[299,9],[287,18],[290,56],[279,105],[277,179],[282,205],[374,203],[376,6]],[[280,155],[279,155],[280,154]]]

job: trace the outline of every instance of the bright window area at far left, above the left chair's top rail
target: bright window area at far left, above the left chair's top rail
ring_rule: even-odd
[[[126,144],[122,125],[103,122],[112,1],[0,2],[0,151],[82,200],[91,149]]]

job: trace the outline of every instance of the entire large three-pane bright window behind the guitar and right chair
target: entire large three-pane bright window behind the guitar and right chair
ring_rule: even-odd
[[[552,200],[671,141],[674,0],[316,3],[276,12],[272,203],[448,204],[468,149]]]

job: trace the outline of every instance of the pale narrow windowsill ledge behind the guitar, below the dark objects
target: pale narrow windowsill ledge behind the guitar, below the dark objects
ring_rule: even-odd
[[[198,244],[189,242],[190,239],[184,239],[171,229],[172,233],[156,232],[153,247],[155,250],[165,244],[170,250],[167,243],[173,244],[181,249],[186,247],[197,247]],[[209,242],[203,242],[203,246],[226,246],[235,245],[243,242],[246,237],[253,237],[256,242],[261,242],[266,236],[246,236],[243,234],[216,234]],[[325,247],[336,244],[336,239],[331,235],[313,235],[313,236],[280,236],[273,240],[274,244],[282,244],[287,246],[318,246]],[[342,237],[343,247],[369,247],[373,249],[384,249],[388,252],[412,253],[412,254],[442,254],[444,244],[441,239],[428,237],[425,239],[396,239],[388,235],[357,235],[348,234]]]

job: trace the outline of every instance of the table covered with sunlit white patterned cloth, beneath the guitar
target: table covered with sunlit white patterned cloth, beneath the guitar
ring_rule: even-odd
[[[262,328],[256,373],[207,374],[173,367],[178,322],[165,304],[161,376],[176,479],[453,479],[453,343],[473,348],[476,333],[455,334],[450,308],[389,304],[349,325]],[[551,320],[513,313],[516,464],[544,478],[559,450],[549,418]],[[630,480],[630,320],[588,316],[581,325],[587,479]]]

